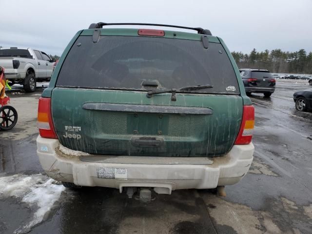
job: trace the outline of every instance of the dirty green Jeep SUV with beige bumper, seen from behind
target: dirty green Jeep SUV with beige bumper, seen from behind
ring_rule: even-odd
[[[159,194],[237,183],[253,160],[254,107],[223,40],[106,25],[78,31],[39,99],[47,175]]]

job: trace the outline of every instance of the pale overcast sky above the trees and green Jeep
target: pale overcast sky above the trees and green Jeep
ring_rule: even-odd
[[[61,55],[93,22],[210,29],[231,51],[312,51],[312,0],[0,0],[0,45]]]

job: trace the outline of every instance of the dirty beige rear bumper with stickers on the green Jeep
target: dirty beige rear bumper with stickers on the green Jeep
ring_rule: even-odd
[[[103,156],[102,161],[86,161],[88,156],[84,156],[82,161],[78,154],[60,152],[59,140],[39,136],[37,154],[47,175],[59,181],[117,188],[120,192],[123,187],[158,187],[170,194],[176,189],[209,189],[237,183],[251,166],[254,145],[234,145],[227,155],[211,160],[184,157],[167,163],[155,157],[122,156],[123,161],[121,156]],[[196,160],[204,159],[210,162],[196,164]]]

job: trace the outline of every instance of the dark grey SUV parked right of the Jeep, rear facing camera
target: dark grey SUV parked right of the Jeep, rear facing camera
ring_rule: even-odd
[[[275,91],[275,79],[268,70],[240,69],[245,91],[248,96],[252,93],[261,93],[269,98]]]

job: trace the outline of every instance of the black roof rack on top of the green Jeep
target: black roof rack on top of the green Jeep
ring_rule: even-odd
[[[160,27],[172,27],[172,28],[183,28],[183,29],[190,29],[197,31],[198,34],[205,34],[212,36],[210,30],[203,29],[203,28],[191,28],[191,27],[184,27],[184,26],[176,26],[176,25],[169,25],[169,24],[157,24],[157,23],[91,23],[89,26],[89,29],[95,29],[95,28],[102,28],[103,26],[107,25],[147,25],[147,26],[160,26]]]

